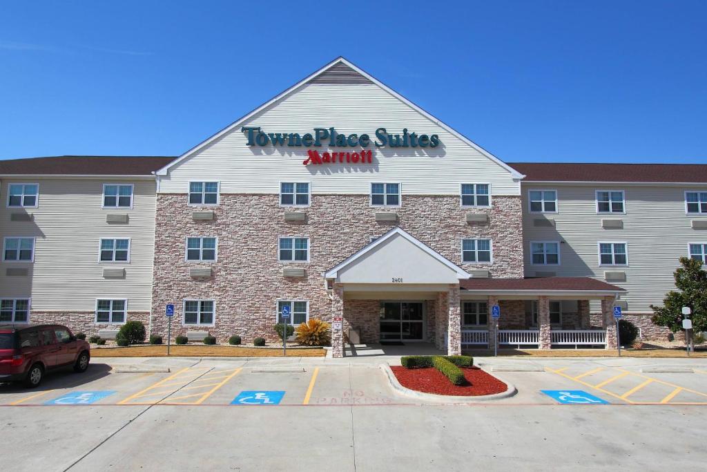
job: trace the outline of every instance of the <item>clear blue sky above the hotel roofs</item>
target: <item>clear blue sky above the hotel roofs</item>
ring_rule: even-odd
[[[33,1],[0,159],[178,155],[343,55],[504,161],[707,163],[706,1]]]

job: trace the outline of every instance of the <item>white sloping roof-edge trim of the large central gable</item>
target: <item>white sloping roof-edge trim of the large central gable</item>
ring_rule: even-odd
[[[354,71],[356,74],[355,75],[352,74],[351,71],[349,71],[349,69],[351,69],[351,71]],[[165,165],[163,168],[160,168],[156,172],[157,175],[167,175],[170,168],[172,168],[173,166],[176,166],[178,163],[180,163],[184,159],[187,159],[187,157],[194,154],[194,152],[199,151],[199,149],[203,148],[204,146],[206,146],[210,142],[214,141],[215,139],[220,138],[221,136],[223,136],[223,134],[226,134],[226,133],[230,132],[231,130],[239,127],[243,122],[250,119],[250,117],[252,117],[256,113],[259,113],[260,111],[264,110],[265,108],[267,108],[270,105],[272,105],[273,103],[275,103],[277,100],[284,98],[288,94],[293,93],[298,88],[305,86],[306,84],[309,84],[309,83],[312,83],[312,84],[341,83],[341,80],[338,79],[337,76],[346,77],[346,79],[344,79],[344,80],[347,81],[348,83],[353,83],[354,81],[358,81],[358,83],[367,83],[370,81],[370,83],[373,83],[373,84],[379,86],[380,88],[385,90],[387,93],[390,93],[390,95],[401,100],[403,103],[408,105],[410,108],[413,108],[418,113],[420,113],[424,117],[428,118],[428,120],[431,120],[432,122],[435,122],[438,126],[443,127],[443,129],[450,132],[450,134],[453,134],[455,137],[461,139],[464,143],[468,144],[469,146],[472,146],[472,148],[476,149],[481,154],[483,154],[487,158],[491,159],[491,161],[497,163],[498,166],[501,166],[502,168],[506,169],[506,171],[508,171],[513,176],[513,178],[518,178],[518,179],[523,178],[523,175],[521,173],[516,171],[514,168],[508,166],[508,164],[501,161],[501,159],[498,159],[496,156],[493,156],[493,154],[489,153],[489,151],[486,151],[486,149],[483,149],[478,144],[475,144],[474,142],[471,141],[471,139],[465,137],[463,134],[461,134],[460,132],[457,132],[455,129],[452,129],[452,127],[445,125],[445,123],[441,122],[436,117],[433,117],[433,115],[430,115],[425,110],[420,108],[418,105],[415,105],[410,100],[408,100],[404,96],[400,95],[399,93],[394,91],[389,86],[383,84],[381,81],[378,81],[378,79],[375,79],[375,77],[368,74],[368,72],[363,71],[363,69],[356,67],[354,64],[352,64],[348,60],[344,59],[344,57],[337,57],[337,59],[334,59],[332,62],[329,62],[329,64],[325,65],[325,67],[322,67],[321,69],[315,71],[313,74],[310,74],[309,76],[305,77],[305,79],[303,79],[302,81],[298,82],[297,84],[291,86],[286,91],[280,93],[278,96],[271,98],[270,100],[268,100],[266,103],[263,103],[255,110],[252,110],[250,113],[247,113],[247,115],[244,115],[243,117],[238,118],[238,120],[231,123],[227,127],[221,129],[221,131],[219,131],[216,134],[214,134],[213,136],[209,137],[204,142],[201,142],[200,144],[197,144],[197,146],[194,146],[192,149],[189,149],[189,151],[187,151],[184,154],[182,154],[181,156],[179,156],[179,158],[175,159],[175,161],[170,162],[169,164]],[[360,79],[358,79],[359,77],[360,77]]]

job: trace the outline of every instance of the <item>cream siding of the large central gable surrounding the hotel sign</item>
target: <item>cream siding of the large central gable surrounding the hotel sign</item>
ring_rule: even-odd
[[[402,195],[459,195],[460,183],[491,183],[494,195],[519,192],[518,182],[505,168],[373,84],[306,85],[243,126],[300,135],[313,134],[315,127],[335,127],[341,134],[365,133],[371,140],[366,149],[373,151],[373,163],[303,166],[308,148],[249,147],[238,126],[170,169],[169,175],[160,178],[160,192],[185,193],[189,180],[220,180],[222,193],[276,193],[281,181],[311,182],[313,194],[368,194],[374,181],[399,182]],[[378,127],[385,127],[388,134],[402,134],[403,128],[418,135],[438,134],[440,145],[377,148],[373,141]],[[322,153],[361,148],[310,149]]]

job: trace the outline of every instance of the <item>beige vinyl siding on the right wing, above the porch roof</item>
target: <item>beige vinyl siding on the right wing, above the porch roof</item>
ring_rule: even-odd
[[[556,214],[530,213],[528,190],[557,190]],[[649,312],[674,289],[673,272],[678,258],[687,255],[689,242],[707,240],[707,231],[691,228],[693,217],[685,214],[684,192],[677,185],[522,185],[525,275],[556,272],[559,277],[596,277],[604,271],[623,270],[626,282],[614,283],[628,290],[629,312]],[[626,214],[597,214],[595,190],[624,190]],[[537,227],[533,220],[547,217],[555,227]],[[602,219],[621,219],[623,229],[602,229]],[[561,265],[532,265],[531,241],[563,241]],[[600,266],[597,243],[628,243],[628,267]],[[592,309],[595,307],[592,306]]]

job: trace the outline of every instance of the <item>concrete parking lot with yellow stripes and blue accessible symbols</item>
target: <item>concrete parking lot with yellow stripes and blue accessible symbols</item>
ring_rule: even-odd
[[[382,360],[395,362],[94,359],[37,390],[3,384],[4,465],[655,470],[707,460],[699,359],[479,358],[518,393],[470,403],[401,395]]]

